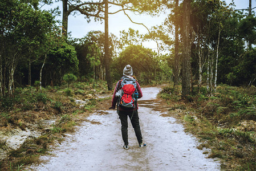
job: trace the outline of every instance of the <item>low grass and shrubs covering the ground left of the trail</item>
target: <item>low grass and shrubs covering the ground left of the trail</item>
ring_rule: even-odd
[[[65,133],[74,132],[75,125],[86,120],[102,93],[108,93],[105,82],[75,82],[66,88],[46,87],[38,91],[35,87],[17,88],[14,97],[2,97],[0,105],[1,133],[11,134],[14,129],[36,130],[38,135],[29,136],[17,149],[9,147],[7,140],[0,140],[0,170],[21,170],[35,164],[41,155],[50,153],[50,147],[58,145]],[[43,125],[40,121],[54,119],[54,123]],[[3,131],[3,132],[2,132]]]

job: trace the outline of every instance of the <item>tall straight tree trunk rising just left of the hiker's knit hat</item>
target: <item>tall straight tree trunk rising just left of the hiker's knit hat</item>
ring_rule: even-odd
[[[104,44],[104,50],[105,50],[105,76],[108,84],[108,90],[112,89],[112,80],[110,75],[110,58],[109,58],[109,41],[108,41],[108,0],[105,0],[105,44]]]

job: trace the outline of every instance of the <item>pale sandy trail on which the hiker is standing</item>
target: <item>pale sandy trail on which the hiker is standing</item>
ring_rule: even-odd
[[[123,149],[116,110],[99,109],[75,133],[66,134],[51,156],[41,157],[44,162],[27,170],[220,170],[220,162],[206,158],[196,148],[196,138],[185,133],[182,124],[155,110],[161,105],[156,97],[160,88],[142,91],[139,117],[147,147],[139,148],[129,122],[129,149]]]

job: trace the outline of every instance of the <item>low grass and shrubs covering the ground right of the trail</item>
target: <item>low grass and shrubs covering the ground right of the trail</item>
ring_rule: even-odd
[[[256,169],[256,88],[221,85],[209,95],[205,87],[186,100],[180,87],[168,86],[160,96],[169,105],[168,116],[184,121],[195,135],[198,149],[209,158],[220,158],[224,170]],[[211,149],[210,152],[206,149]]]

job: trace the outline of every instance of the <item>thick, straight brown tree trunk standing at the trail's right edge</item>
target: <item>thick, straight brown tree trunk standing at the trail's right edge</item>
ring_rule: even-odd
[[[190,43],[190,3],[191,0],[184,0],[183,2],[183,30],[182,30],[182,96],[190,95],[191,92],[191,43]]]

